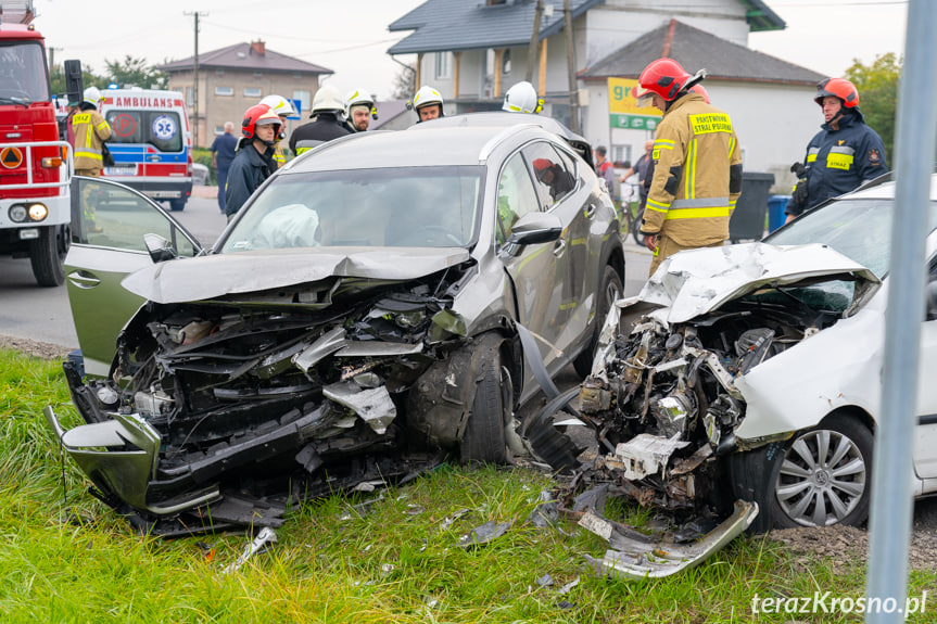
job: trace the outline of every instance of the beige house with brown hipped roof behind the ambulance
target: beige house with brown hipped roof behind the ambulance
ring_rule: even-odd
[[[244,111],[270,94],[299,100],[305,123],[319,78],[331,69],[268,50],[264,41],[236,43],[199,54],[198,106],[195,105],[195,66],[193,58],[157,67],[169,74],[168,88],[186,94],[189,119],[197,147],[212,144],[224,132],[225,122],[240,127]],[[195,123],[198,120],[198,123]],[[287,128],[289,133],[292,130]]]

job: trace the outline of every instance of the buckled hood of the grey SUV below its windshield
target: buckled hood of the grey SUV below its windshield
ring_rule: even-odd
[[[121,284],[150,301],[203,301],[329,277],[410,280],[469,259],[461,247],[304,247],[216,254],[155,264]]]

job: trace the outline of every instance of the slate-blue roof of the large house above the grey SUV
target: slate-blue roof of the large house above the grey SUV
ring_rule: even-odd
[[[604,0],[570,0],[573,18]],[[536,2],[506,0],[488,5],[485,0],[427,0],[388,28],[391,31],[414,30],[394,43],[389,54],[483,50],[519,47],[530,43]],[[540,21],[540,38],[562,29],[564,15],[554,11]]]

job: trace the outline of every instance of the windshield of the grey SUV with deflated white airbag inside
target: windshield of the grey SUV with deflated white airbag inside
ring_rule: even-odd
[[[481,177],[477,166],[280,175],[245,208],[220,253],[467,246],[474,239]]]

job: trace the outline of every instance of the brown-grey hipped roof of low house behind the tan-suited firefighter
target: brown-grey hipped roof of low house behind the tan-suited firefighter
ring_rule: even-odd
[[[656,59],[673,59],[691,74],[700,68],[717,80],[814,86],[826,76],[775,59],[676,20],[619,48],[579,73],[583,80],[637,78]]]

